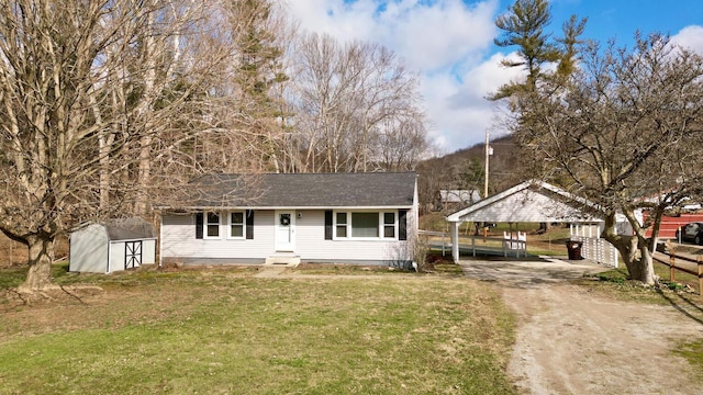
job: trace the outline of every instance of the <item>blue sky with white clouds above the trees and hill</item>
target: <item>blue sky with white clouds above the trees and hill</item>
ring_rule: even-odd
[[[342,42],[361,40],[392,49],[417,72],[438,155],[505,135],[484,98],[518,76],[500,66],[515,48],[493,44],[494,21],[514,0],[288,0],[302,29]],[[583,34],[632,46],[636,31],[660,32],[703,54],[701,0],[551,0],[551,27],[577,14]]]

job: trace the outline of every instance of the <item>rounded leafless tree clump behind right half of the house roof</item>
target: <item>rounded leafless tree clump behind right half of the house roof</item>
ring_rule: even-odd
[[[370,171],[384,166],[390,156],[391,161],[402,161],[398,153],[378,146],[406,144],[400,135],[412,136],[409,157],[417,158],[426,149],[426,143],[417,144],[426,131],[416,77],[390,50],[359,42],[342,45],[330,36],[309,34],[301,38],[297,54],[289,97],[298,131],[291,154],[301,156],[297,160],[301,170]]]

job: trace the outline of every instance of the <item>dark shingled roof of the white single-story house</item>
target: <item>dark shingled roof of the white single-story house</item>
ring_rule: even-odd
[[[211,174],[183,207],[410,207],[414,172]]]

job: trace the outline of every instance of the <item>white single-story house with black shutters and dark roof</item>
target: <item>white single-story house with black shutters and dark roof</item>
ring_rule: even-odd
[[[409,266],[414,172],[213,174],[157,206],[160,260]]]

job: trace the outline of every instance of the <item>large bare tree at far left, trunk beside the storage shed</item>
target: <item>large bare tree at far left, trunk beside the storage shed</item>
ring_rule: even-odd
[[[180,61],[201,9],[177,5],[0,0],[0,230],[29,246],[23,290],[49,284],[58,235],[143,211],[154,143],[216,64]]]

